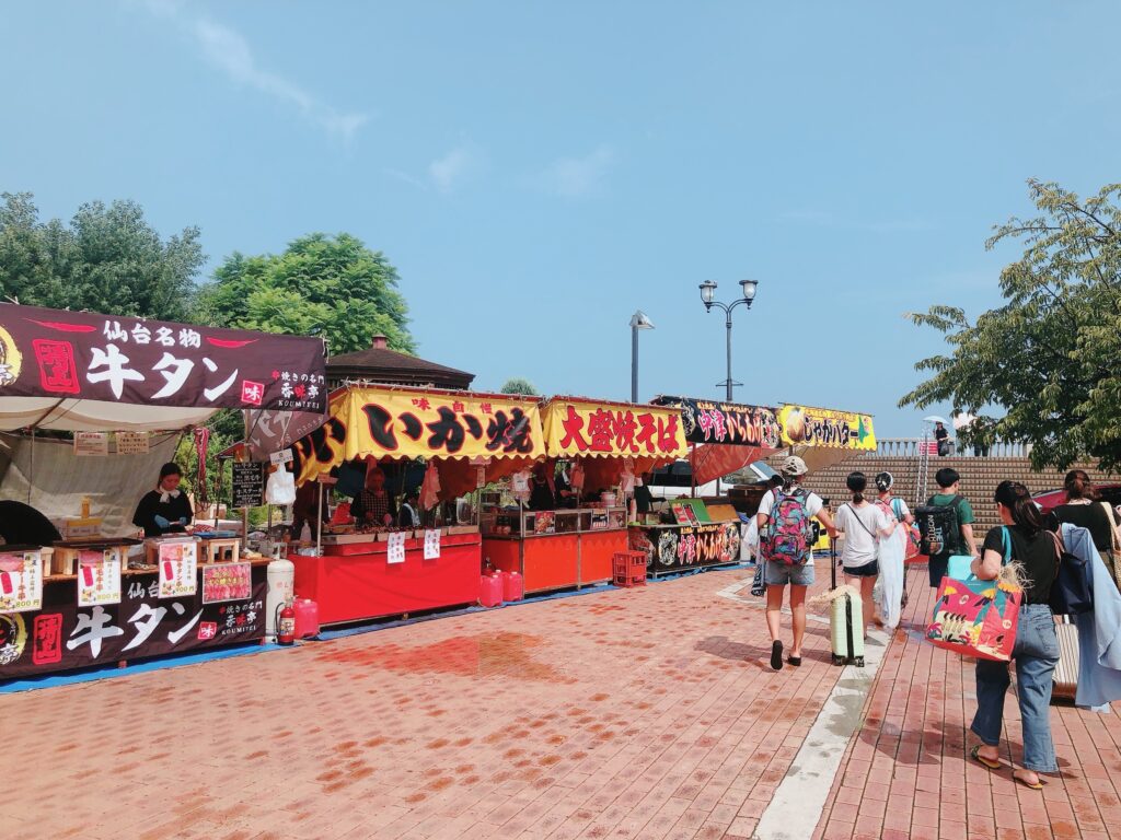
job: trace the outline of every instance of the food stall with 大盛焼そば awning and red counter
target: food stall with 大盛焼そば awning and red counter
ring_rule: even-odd
[[[612,578],[612,559],[628,550],[627,487],[637,476],[686,454],[680,412],[655,405],[553,398],[541,405],[548,468],[573,463],[575,507],[483,511],[483,556],[520,572],[527,592],[585,586]],[[582,489],[592,493],[591,500]]]

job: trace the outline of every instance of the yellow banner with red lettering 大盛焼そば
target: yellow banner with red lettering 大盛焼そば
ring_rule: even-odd
[[[554,399],[541,409],[541,423],[550,458],[673,460],[688,451],[679,409]]]

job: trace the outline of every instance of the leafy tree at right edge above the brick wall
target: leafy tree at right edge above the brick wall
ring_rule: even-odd
[[[1088,456],[1112,470],[1121,466],[1121,184],[1085,200],[1056,184],[1028,185],[1040,215],[1009,220],[986,243],[1025,245],[1001,271],[1004,305],[973,321],[953,306],[910,315],[952,351],[916,365],[930,377],[899,404],[1000,405],[991,431],[1030,442],[1037,468]]]

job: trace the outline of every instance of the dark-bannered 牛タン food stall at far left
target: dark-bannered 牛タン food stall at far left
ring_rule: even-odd
[[[318,338],[2,305],[0,429],[26,432],[33,451],[36,435],[72,447],[90,465],[74,483],[95,483],[127,475],[122,459],[146,463],[154,432],[222,408],[322,412],[324,361]],[[133,468],[131,486],[103,486],[62,541],[0,545],[0,680],[263,636],[265,561],[212,532],[140,545],[115,496],[132,506],[155,477]]]

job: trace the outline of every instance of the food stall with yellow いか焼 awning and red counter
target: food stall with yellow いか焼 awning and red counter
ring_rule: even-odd
[[[342,523],[325,528],[322,554],[289,556],[296,594],[324,624],[473,604],[479,598],[478,522],[435,522],[433,507],[545,455],[536,398],[415,388],[344,386],[328,419],[293,447],[298,484],[345,463],[428,463],[420,504],[427,528]]]

